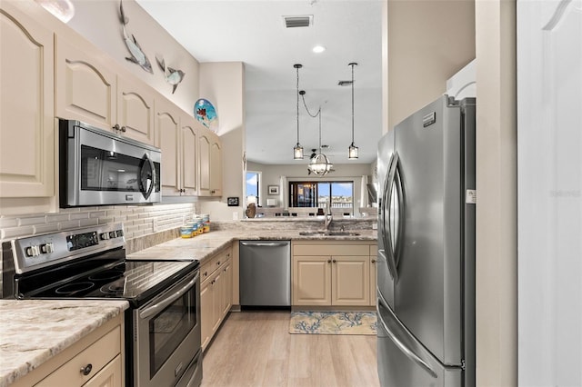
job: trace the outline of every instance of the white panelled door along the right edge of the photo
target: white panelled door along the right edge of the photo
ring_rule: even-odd
[[[521,386],[582,385],[581,10],[517,2]]]

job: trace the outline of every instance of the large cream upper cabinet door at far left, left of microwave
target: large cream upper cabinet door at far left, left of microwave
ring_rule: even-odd
[[[9,2],[0,6],[0,197],[51,197],[53,34]]]

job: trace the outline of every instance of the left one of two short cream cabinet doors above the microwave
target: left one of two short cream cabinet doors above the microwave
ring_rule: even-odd
[[[115,72],[99,53],[56,36],[56,116],[102,128],[115,125]]]

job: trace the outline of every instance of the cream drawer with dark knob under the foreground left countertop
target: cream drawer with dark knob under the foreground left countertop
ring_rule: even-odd
[[[83,385],[121,352],[120,337],[121,329],[116,326],[36,385],[45,387]],[[91,372],[85,376],[81,369],[88,364],[91,364]]]

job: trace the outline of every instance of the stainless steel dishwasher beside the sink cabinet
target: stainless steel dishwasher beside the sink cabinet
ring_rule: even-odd
[[[240,305],[291,306],[290,241],[240,241]]]

